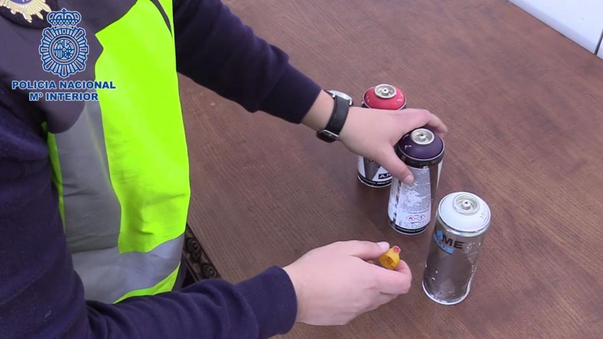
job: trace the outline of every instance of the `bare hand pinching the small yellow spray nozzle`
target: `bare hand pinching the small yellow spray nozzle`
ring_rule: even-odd
[[[311,250],[283,269],[297,295],[297,322],[345,325],[408,293],[411,271],[400,261],[396,270],[370,264],[387,252],[387,242],[339,241]]]

